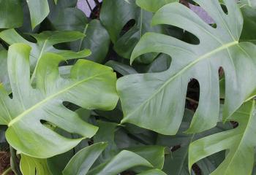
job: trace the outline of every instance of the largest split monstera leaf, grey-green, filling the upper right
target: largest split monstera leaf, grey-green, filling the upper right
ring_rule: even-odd
[[[200,44],[188,44],[163,34],[147,33],[133,51],[131,63],[148,52],[164,52],[172,57],[167,71],[133,74],[118,79],[124,119],[142,128],[163,134],[176,134],[184,113],[187,84],[197,79],[200,101],[187,132],[213,128],[219,117],[219,67],[225,71],[224,120],[238,109],[256,87],[256,47],[238,42],[243,26],[235,1],[225,1],[228,14],[219,1],[196,0],[214,19],[209,26],[182,4],[167,4],[154,15],[153,24],[169,24],[195,34]],[[244,78],[246,77],[246,78]]]

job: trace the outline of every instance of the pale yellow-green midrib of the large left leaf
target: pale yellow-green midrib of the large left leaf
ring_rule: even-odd
[[[65,93],[67,90],[70,90],[72,88],[74,88],[75,86],[78,86],[80,85],[80,83],[83,83],[83,82],[86,82],[86,81],[89,81],[90,79],[93,79],[94,77],[99,77],[103,74],[109,74],[109,72],[105,72],[105,73],[102,73],[102,74],[97,74],[97,75],[94,75],[92,77],[89,77],[89,78],[86,78],[86,79],[83,79],[79,82],[76,82],[75,84],[67,87],[67,88],[64,88],[63,90],[60,90],[58,93],[55,93],[51,96],[48,96],[47,98],[43,99],[42,101],[39,101],[37,104],[35,104],[34,106],[31,106],[29,109],[26,109],[26,111],[22,112],[21,114],[19,114],[17,117],[15,117],[14,119],[12,119],[10,121],[10,123],[8,124],[8,127],[12,126],[14,123],[17,123],[19,120],[22,119],[23,116],[25,116],[26,114],[29,114],[29,112],[32,112],[34,111],[35,109],[37,109],[39,106],[41,106],[42,104],[45,104],[46,102],[52,100],[53,98],[56,98],[56,96],[59,96],[61,93]]]

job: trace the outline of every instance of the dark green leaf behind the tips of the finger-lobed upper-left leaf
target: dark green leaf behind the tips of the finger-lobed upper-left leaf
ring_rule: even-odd
[[[108,54],[110,36],[100,21],[89,21],[76,7],[61,7],[61,4],[57,7],[61,12],[49,18],[52,26],[59,31],[80,31],[85,34],[86,37],[70,44],[71,49],[78,52],[88,48],[92,54],[87,59],[102,63]]]

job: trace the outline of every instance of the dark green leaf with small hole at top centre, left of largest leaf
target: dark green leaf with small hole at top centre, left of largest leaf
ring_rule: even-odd
[[[99,18],[110,34],[114,50],[124,58],[130,58],[135,44],[147,31],[163,32],[162,26],[151,26],[152,13],[140,9],[135,1],[130,1],[129,4],[124,0],[103,1]],[[124,34],[122,29],[130,20],[135,20],[135,25],[129,24],[128,27],[131,28]],[[156,56],[155,53],[148,54],[142,56],[140,61],[150,63]]]

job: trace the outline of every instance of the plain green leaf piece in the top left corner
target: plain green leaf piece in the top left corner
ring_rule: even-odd
[[[23,12],[19,0],[0,1],[0,28],[22,26]]]

